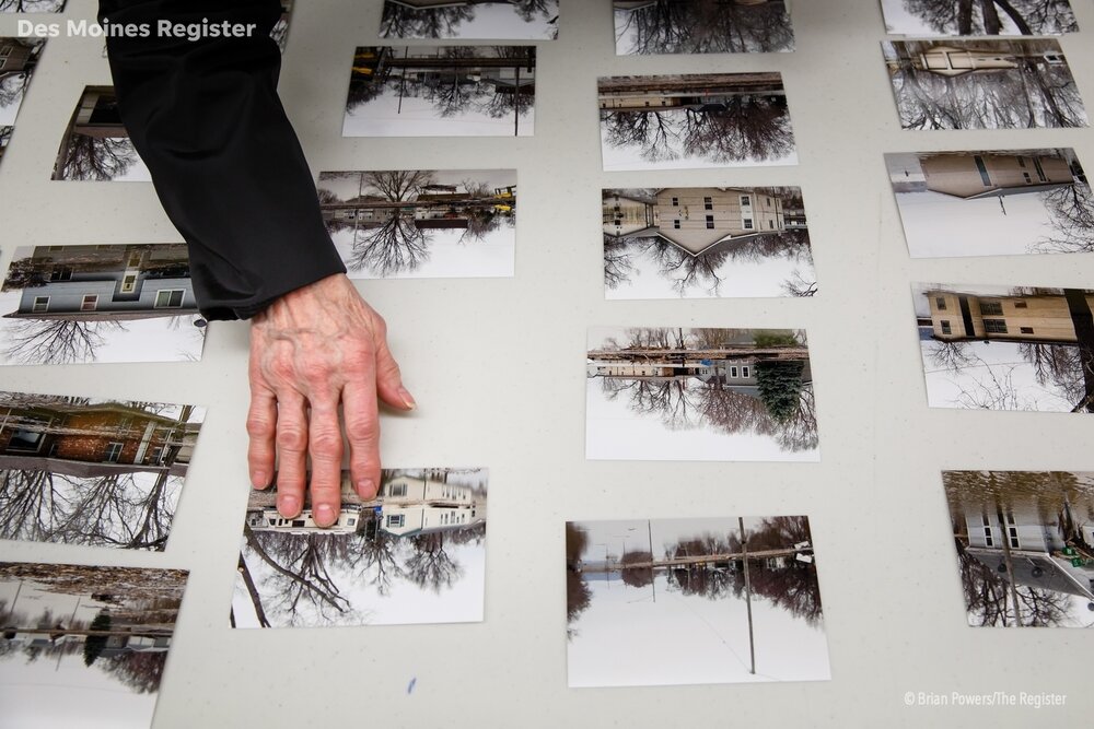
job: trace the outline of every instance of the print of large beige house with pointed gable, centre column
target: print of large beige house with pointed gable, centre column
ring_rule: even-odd
[[[602,191],[607,298],[813,296],[796,187]]]

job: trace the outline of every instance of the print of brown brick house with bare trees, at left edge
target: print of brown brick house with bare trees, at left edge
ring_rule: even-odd
[[[205,409],[0,391],[0,539],[162,552]]]

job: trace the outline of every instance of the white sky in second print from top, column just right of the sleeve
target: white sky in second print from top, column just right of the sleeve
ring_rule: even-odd
[[[493,119],[485,113],[465,111],[441,117],[433,103],[415,96],[403,99],[398,111],[398,92],[385,89],[371,102],[346,113],[342,137],[514,137],[513,115]],[[532,99],[526,99],[531,103]],[[520,136],[535,131],[535,109],[521,114]]]

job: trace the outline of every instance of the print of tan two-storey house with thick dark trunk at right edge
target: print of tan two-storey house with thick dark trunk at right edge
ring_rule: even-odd
[[[912,291],[932,408],[1094,412],[1094,291]]]

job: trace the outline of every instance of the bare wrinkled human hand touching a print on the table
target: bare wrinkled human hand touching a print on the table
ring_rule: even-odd
[[[251,410],[247,461],[255,489],[277,469],[277,507],[300,514],[312,460],[312,518],[321,527],[341,508],[342,405],[357,493],[380,485],[377,395],[412,410],[399,366],[387,349],[387,326],[345,274],[327,277],[276,299],[251,325]]]

